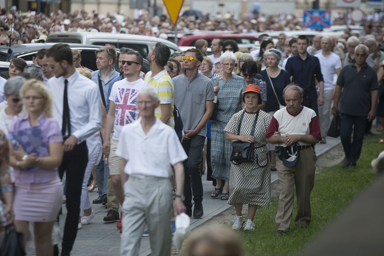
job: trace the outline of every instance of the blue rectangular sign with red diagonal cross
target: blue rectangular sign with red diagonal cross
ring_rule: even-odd
[[[304,10],[303,27],[324,29],[331,26],[331,10]]]

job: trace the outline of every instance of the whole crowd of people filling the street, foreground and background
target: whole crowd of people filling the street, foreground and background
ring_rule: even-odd
[[[0,28],[5,34],[12,28],[12,44],[40,41],[56,29],[124,31],[114,20],[89,19],[84,11],[54,17],[2,14]],[[162,27],[169,29],[166,18],[146,13],[124,23],[132,34],[135,25],[138,34],[148,36],[156,27],[159,34]],[[239,31],[231,19],[222,23],[184,19],[179,26]],[[241,24],[250,31],[260,23],[245,18]],[[0,215],[8,217],[1,224],[13,222],[24,245],[32,229],[37,255],[58,255],[52,229],[64,194],[68,214],[60,253],[69,255],[77,230],[94,217],[88,193],[97,185],[99,197],[92,203],[108,209],[104,222],[117,222],[122,255],[137,255],[141,236],[150,236],[153,255],[169,255],[175,217],[204,216],[206,169],[210,197],[236,209],[232,229],[254,229],[258,207],[269,207],[270,172],[276,170],[282,185],[276,233],[289,232],[295,192],[295,225],[308,227],[314,145],[327,143],[332,114],[340,116],[344,168],[356,168],[376,115],[384,125],[384,97],[378,92],[384,29],[376,34],[373,28],[367,25],[357,36],[349,31],[342,38],[316,36],[312,42],[281,33],[277,44],[264,33],[260,48],[251,51],[233,40],[215,38],[209,46],[201,39],[196,48],[173,56],[161,43],[147,56],[128,48],[118,56],[107,44],[95,51],[92,73],[81,66],[80,52],[66,44],[39,50],[31,65],[13,58],[7,79],[0,79]],[[146,74],[143,57],[151,65]],[[113,68],[116,61],[119,70]],[[181,137],[174,131],[178,119]],[[253,157],[234,161],[234,142],[248,143]]]

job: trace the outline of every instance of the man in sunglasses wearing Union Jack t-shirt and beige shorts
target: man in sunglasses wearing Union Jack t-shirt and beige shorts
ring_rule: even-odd
[[[145,86],[145,82],[140,78],[140,71],[143,65],[143,58],[136,51],[126,52],[120,56],[123,65],[123,73],[126,77],[123,80],[113,84],[110,100],[110,109],[106,116],[105,138],[114,131],[111,141],[104,141],[103,152],[109,157],[110,176],[113,190],[119,204],[123,204],[124,192],[121,185],[120,162],[121,158],[116,155],[116,148],[120,138],[120,132],[124,125],[132,123],[138,117],[137,110],[137,93]],[[107,190],[107,200],[108,200]],[[115,205],[108,200],[108,215],[104,217],[104,221],[116,220],[118,217],[119,204]],[[121,220],[121,218],[120,218]],[[121,228],[120,228],[121,230]]]

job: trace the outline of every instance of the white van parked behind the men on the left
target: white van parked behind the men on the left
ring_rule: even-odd
[[[62,42],[64,44],[87,44],[104,46],[105,44],[114,45],[117,49],[122,47],[131,48],[138,51],[141,56],[146,57],[148,52],[156,45],[162,42],[170,49],[170,56],[174,52],[180,52],[180,48],[165,39],[154,36],[131,35],[131,34],[112,34],[105,32],[60,32],[52,33],[47,37],[46,42]]]

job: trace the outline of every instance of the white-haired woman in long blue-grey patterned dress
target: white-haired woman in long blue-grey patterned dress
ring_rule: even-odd
[[[219,78],[215,94],[218,96],[217,121],[211,127],[211,165],[212,178],[216,179],[215,190],[210,195],[217,198],[221,194],[221,200],[229,197],[229,170],[232,146],[225,139],[224,127],[234,113],[241,110],[242,92],[246,87],[243,77],[232,73],[236,56],[232,52],[225,52],[220,56],[220,66],[223,75]],[[224,186],[222,186],[224,180]]]

